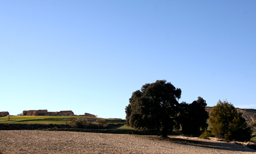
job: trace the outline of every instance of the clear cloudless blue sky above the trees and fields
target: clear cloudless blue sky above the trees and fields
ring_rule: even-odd
[[[166,80],[181,101],[256,109],[256,1],[0,1],[0,111],[125,118]]]

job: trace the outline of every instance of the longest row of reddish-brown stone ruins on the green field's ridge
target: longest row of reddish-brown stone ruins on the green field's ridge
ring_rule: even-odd
[[[47,110],[29,110],[29,111],[23,111],[22,115],[23,116],[45,116],[45,115],[73,116],[74,112],[72,111],[48,112]]]

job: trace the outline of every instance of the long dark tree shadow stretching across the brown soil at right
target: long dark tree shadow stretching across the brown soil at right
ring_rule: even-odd
[[[194,141],[194,140],[186,140],[186,139],[177,139],[177,138],[163,138],[163,137],[147,137],[151,140],[164,140],[164,141],[170,141],[175,142],[177,144],[187,144],[191,146],[197,146],[197,147],[204,147],[204,148],[211,148],[211,149],[220,149],[220,150],[230,150],[230,151],[242,151],[242,152],[251,152],[252,150],[255,150],[256,147],[250,147],[246,148],[243,145],[239,144],[233,144],[233,143],[220,143],[220,142],[207,142],[207,141]]]

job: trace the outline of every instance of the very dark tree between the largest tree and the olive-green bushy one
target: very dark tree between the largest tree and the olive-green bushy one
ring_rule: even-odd
[[[199,136],[207,129],[209,115],[205,111],[206,106],[206,101],[202,97],[198,97],[191,104],[182,102],[180,123],[183,134]]]

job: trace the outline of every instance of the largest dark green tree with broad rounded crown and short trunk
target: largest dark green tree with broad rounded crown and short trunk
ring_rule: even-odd
[[[133,92],[125,108],[126,125],[140,131],[162,130],[162,136],[166,137],[176,124],[180,96],[181,90],[166,80],[143,85],[141,90]]]

